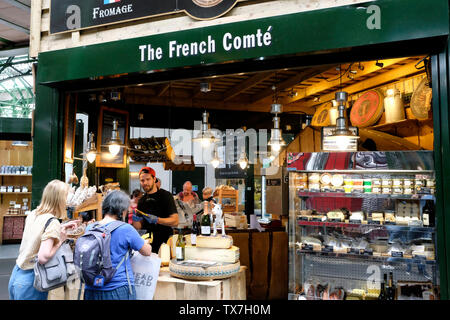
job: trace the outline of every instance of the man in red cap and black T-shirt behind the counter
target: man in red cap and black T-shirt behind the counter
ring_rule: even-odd
[[[145,214],[133,214],[133,226],[153,232],[152,251],[158,253],[159,247],[167,242],[173,234],[172,227],[178,226],[178,212],[170,192],[158,189],[155,170],[143,167],[139,171],[139,182],[144,195],[138,202],[137,209]]]

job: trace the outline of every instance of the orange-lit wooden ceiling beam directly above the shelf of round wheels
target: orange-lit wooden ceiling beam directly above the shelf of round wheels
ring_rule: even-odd
[[[357,82],[350,86],[344,87],[342,90],[346,91],[349,95],[357,94],[363,91],[370,90],[381,85],[386,85],[391,82],[396,82],[398,79],[410,77],[416,74],[425,72],[424,69],[416,68],[417,61],[408,63],[404,66],[389,70],[378,76]],[[321,105],[327,101],[331,101],[335,98],[335,92],[328,93],[320,97],[320,102],[314,101],[313,99],[301,103],[301,106],[309,108],[317,105]]]

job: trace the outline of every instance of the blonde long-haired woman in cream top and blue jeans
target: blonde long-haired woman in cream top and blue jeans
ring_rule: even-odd
[[[33,287],[35,259],[47,263],[67,239],[66,230],[75,228],[76,221],[61,224],[66,219],[66,199],[69,186],[60,181],[50,181],[44,188],[39,206],[25,220],[19,256],[9,280],[10,300],[47,300],[47,292]],[[46,223],[51,222],[44,230]],[[59,220],[58,220],[59,219]]]

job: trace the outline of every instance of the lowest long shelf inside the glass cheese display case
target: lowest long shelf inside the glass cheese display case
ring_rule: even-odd
[[[310,250],[296,250],[297,254],[311,254],[317,256],[331,257],[331,258],[356,258],[362,260],[370,260],[380,263],[412,263],[412,264],[428,264],[435,265],[436,260],[428,260],[425,258],[401,258],[401,257],[383,257],[373,256],[367,254],[353,254],[353,253],[337,253],[337,252],[324,252],[324,251],[310,251]]]

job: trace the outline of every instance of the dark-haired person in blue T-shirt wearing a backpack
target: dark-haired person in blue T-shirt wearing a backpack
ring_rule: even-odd
[[[150,256],[152,247],[132,225],[122,222],[129,206],[130,198],[125,192],[116,190],[109,193],[102,203],[103,219],[88,225],[85,234],[77,240],[74,259],[85,282],[84,300],[136,299],[129,254],[135,250]],[[100,241],[101,238],[108,239],[110,247],[109,251],[101,253],[103,269],[99,269],[95,261],[91,263],[89,258],[98,256],[99,251],[96,250],[99,249],[96,249],[97,241],[94,240],[99,239],[99,234]]]

